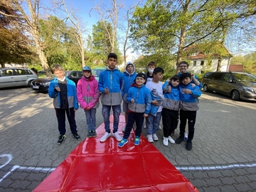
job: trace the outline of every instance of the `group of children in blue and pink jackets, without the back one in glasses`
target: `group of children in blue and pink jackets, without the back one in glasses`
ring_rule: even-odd
[[[77,140],[80,139],[75,125],[75,110],[78,110],[78,102],[80,107],[85,110],[87,137],[97,136],[95,116],[100,100],[105,123],[105,134],[100,138],[100,142],[105,142],[108,137],[115,137],[119,142],[118,146],[124,146],[128,142],[135,122],[134,145],[139,145],[144,118],[146,119],[148,141],[157,141],[159,139],[156,132],[162,117],[163,144],[168,146],[169,142],[175,143],[174,139],[171,138],[171,133],[176,129],[180,117],[180,137],[176,139],[176,143],[183,142],[188,119],[186,149],[191,150],[196,111],[198,110],[197,97],[201,96],[199,87],[191,83],[191,73],[182,73],[179,74],[180,76],[174,75],[163,85],[161,80],[164,70],[156,68],[154,62],[149,63],[149,72],[146,74],[136,74],[132,62],[127,63],[124,73],[121,73],[116,65],[117,55],[110,53],[107,57],[107,68],[100,73],[98,82],[92,75],[91,68],[85,66],[82,69],[83,77],[78,81],[77,87],[72,80],[65,78],[64,70],[60,65],[53,66],[52,70],[56,78],[50,82],[48,95],[53,98],[58,119],[60,132],[58,144],[62,144],[65,139],[65,114],[67,114],[73,137]],[[122,101],[126,122],[123,137],[117,132]],[[111,109],[114,116],[112,132],[110,130]]]

